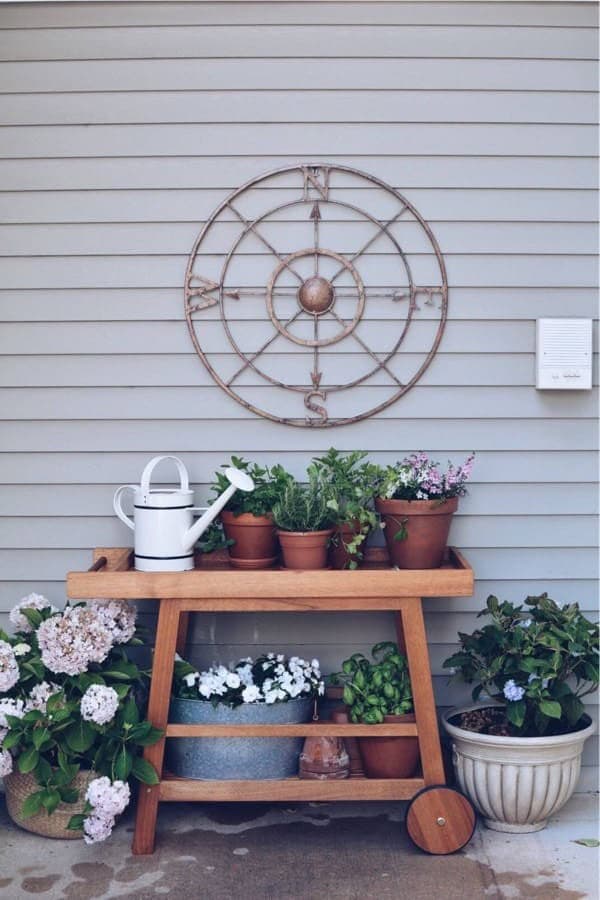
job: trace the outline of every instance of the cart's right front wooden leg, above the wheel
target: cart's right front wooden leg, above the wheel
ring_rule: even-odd
[[[406,647],[412,686],[423,779],[426,785],[445,784],[431,667],[420,597],[409,597],[396,618],[398,642]],[[406,640],[405,640],[406,637]]]

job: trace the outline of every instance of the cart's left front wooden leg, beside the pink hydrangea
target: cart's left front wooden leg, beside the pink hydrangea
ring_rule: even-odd
[[[155,728],[164,729],[168,722],[179,615],[177,600],[161,599],[148,703],[148,719]],[[159,778],[162,778],[164,754],[165,738],[144,750],[144,759],[152,763]],[[159,788],[158,784],[140,785],[132,847],[135,855],[154,852]]]

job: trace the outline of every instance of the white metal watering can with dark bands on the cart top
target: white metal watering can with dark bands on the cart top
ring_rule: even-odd
[[[150,487],[154,467],[163,459],[172,459],[179,472],[179,487]],[[193,547],[201,534],[219,515],[237,491],[253,491],[254,482],[240,469],[226,469],[230,481],[227,490],[212,506],[194,506],[187,469],[177,456],[155,456],[142,472],[141,484],[123,484],[117,488],[113,506],[121,522],[134,532],[135,568],[141,572],[185,572],[194,568]],[[123,512],[125,491],[133,491],[133,519]],[[204,513],[194,522],[194,513]]]

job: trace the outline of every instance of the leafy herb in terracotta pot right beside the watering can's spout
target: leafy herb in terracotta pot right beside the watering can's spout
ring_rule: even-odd
[[[292,476],[283,466],[263,467],[239,456],[232,456],[223,468],[229,465],[247,472],[254,481],[253,491],[236,491],[221,512],[229,560],[236,569],[265,569],[278,555],[273,506]],[[212,490],[220,495],[229,482],[222,472],[215,479]]]

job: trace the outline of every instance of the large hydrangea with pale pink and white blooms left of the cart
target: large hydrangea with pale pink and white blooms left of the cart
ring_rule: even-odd
[[[162,735],[140,714],[148,675],[127,656],[142,643],[135,609],[91,601],[60,612],[30,594],[10,621],[13,635],[0,630],[0,777],[37,782],[23,803],[27,818],[76,803],[78,773],[97,773],[69,828],[82,829],[88,843],[103,840],[129,802],[129,778],[158,782],[141,758]]]

